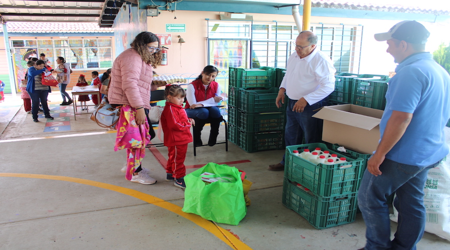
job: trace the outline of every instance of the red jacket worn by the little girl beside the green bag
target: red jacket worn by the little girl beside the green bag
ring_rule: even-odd
[[[166,101],[161,113],[164,146],[183,145],[192,141],[191,124],[183,106]]]

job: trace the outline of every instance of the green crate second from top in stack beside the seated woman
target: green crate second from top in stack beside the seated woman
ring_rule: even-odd
[[[243,112],[279,112],[286,109],[286,101],[281,107],[275,105],[275,99],[278,95],[278,88],[271,87],[269,89],[243,89],[239,88],[239,108]]]

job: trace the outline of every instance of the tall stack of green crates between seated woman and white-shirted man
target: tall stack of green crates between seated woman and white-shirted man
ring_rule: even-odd
[[[284,148],[285,106],[275,106],[276,72],[229,68],[228,140],[247,152]]]

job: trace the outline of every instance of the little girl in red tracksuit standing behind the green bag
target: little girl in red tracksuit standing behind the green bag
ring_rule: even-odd
[[[164,145],[168,147],[168,159],[166,166],[166,181],[175,180],[174,185],[186,188],[184,175],[186,167],[187,143],[192,141],[190,127],[194,123],[192,118],[187,118],[182,104],[186,91],[179,85],[167,85],[165,87],[165,106],[160,122],[164,132]]]

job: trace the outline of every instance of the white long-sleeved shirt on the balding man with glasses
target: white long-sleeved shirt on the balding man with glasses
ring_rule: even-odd
[[[286,73],[279,87],[286,89],[290,99],[303,97],[312,105],[334,91],[335,72],[330,58],[317,47],[303,58],[293,52],[287,59]]]

